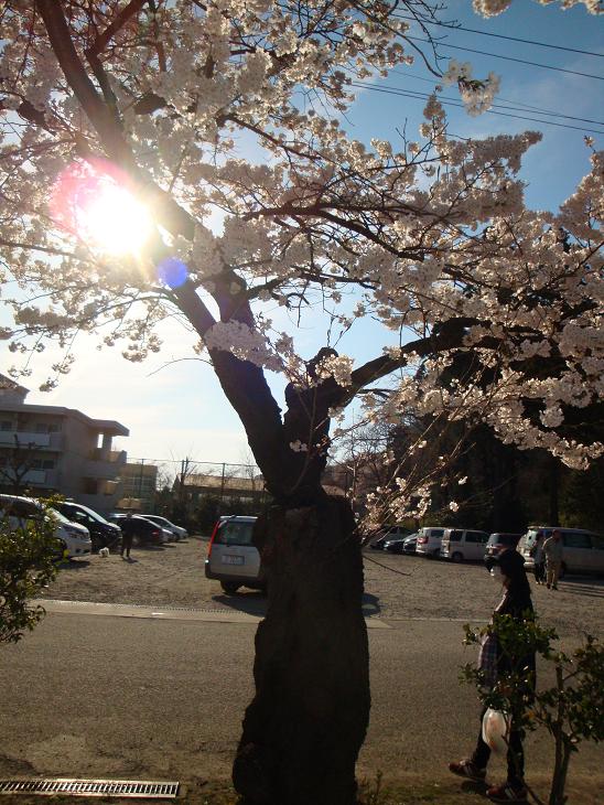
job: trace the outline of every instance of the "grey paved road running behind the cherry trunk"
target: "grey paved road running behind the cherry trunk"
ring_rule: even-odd
[[[138,614],[51,612],[22,643],[2,648],[1,775],[228,776],[251,696],[254,622]],[[459,622],[379,625],[369,629],[373,710],[359,771],[443,779],[445,762],[470,749],[476,730],[473,691],[457,683],[472,650],[461,645]],[[528,743],[537,777],[549,754],[540,734]],[[573,759],[578,776],[593,775],[594,796],[604,784],[601,761],[592,747]]]

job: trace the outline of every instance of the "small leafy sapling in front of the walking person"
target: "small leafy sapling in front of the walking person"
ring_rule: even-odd
[[[548,730],[554,741],[548,805],[564,805],[573,752],[579,751],[581,741],[604,740],[604,646],[587,634],[583,645],[567,654],[556,647],[559,640],[556,630],[531,618],[516,621],[510,615],[496,615],[488,626],[464,629],[466,645],[478,644],[486,635],[494,634],[501,654],[515,661],[494,686],[473,664],[464,667],[462,678],[477,686],[479,698],[487,707],[514,713],[518,728]],[[547,665],[553,668],[551,687],[538,686],[533,691],[531,672],[522,664],[522,658],[531,654],[544,661],[540,672],[543,676]],[[538,805],[544,805],[530,787],[529,793]]]

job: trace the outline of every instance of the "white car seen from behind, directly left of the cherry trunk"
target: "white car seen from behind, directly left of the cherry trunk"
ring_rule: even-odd
[[[251,543],[257,519],[234,515],[220,518],[214,526],[205,560],[205,575],[207,579],[219,581],[228,594],[237,592],[242,586],[266,589],[260,554]]]

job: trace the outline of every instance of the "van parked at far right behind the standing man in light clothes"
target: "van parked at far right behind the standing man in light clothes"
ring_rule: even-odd
[[[556,526],[529,526],[521,538],[519,550],[525,557],[525,568],[535,569],[535,560],[530,555],[539,532],[547,539]],[[558,528],[562,533],[564,552],[560,578],[565,573],[604,573],[604,537],[584,528]]]

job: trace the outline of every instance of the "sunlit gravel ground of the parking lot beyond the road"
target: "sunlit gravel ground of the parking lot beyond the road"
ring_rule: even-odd
[[[223,593],[204,576],[207,540],[190,537],[163,548],[132,550],[130,562],[119,555],[94,555],[66,564],[43,598],[163,604],[199,609],[237,608],[261,614],[266,599],[252,590]],[[423,557],[365,551],[367,615],[479,621],[489,616],[500,586],[479,565],[452,565]],[[533,602],[542,621],[560,634],[591,632],[602,636],[604,579],[569,577],[558,591],[533,584]]]

